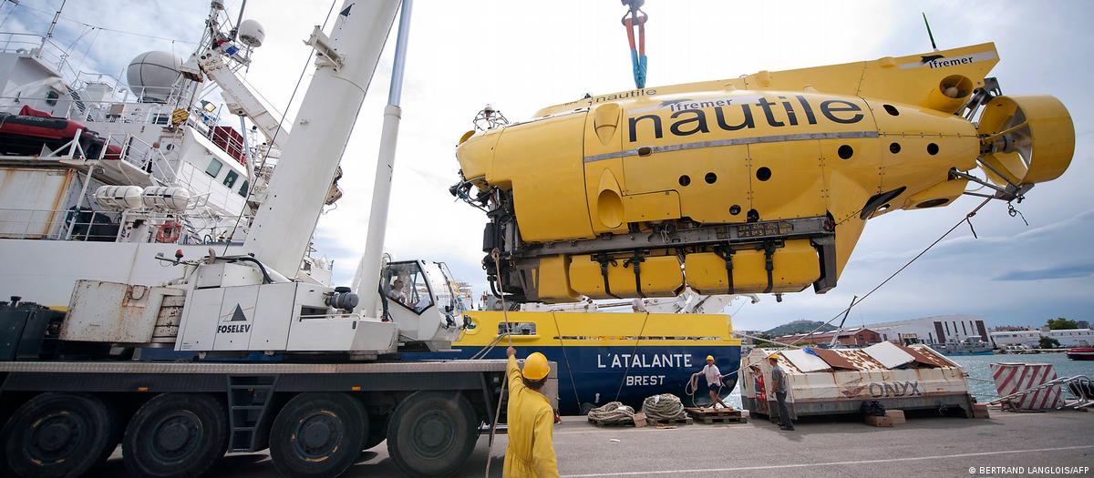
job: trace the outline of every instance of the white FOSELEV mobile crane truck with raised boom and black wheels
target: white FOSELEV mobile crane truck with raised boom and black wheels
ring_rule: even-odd
[[[315,75],[243,253],[160,258],[181,272],[165,285],[78,280],[66,313],[0,304],[0,475],[81,476],[119,441],[133,476],[196,477],[225,452],[265,449],[284,475],[336,476],[385,439],[408,475],[447,476],[467,459],[479,425],[494,421],[505,363],[383,360],[447,348],[464,326],[443,264],[386,264],[415,278],[417,297],[383,313],[348,287],[291,278],[399,3],[347,0],[329,36],[312,33]],[[394,134],[398,107],[386,112]],[[389,180],[391,169],[377,175]],[[376,190],[379,240],[361,280],[373,304],[388,191]],[[193,358],[156,360],[156,348]]]

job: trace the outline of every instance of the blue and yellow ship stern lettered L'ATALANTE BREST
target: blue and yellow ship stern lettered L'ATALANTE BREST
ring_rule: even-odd
[[[583,415],[609,402],[639,409],[652,395],[671,393],[686,406],[707,406],[705,379],[689,394],[707,356],[725,377],[721,396],[736,387],[741,339],[730,315],[468,311],[472,326],[450,351],[406,352],[406,360],[505,358],[510,339],[520,356],[543,352],[557,363],[558,410]]]

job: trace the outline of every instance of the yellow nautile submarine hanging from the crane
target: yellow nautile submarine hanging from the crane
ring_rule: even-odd
[[[868,219],[1021,201],[1068,168],[1067,108],[1003,96],[998,61],[989,43],[586,97],[468,131],[452,192],[487,212],[484,267],[514,302],[823,294]]]

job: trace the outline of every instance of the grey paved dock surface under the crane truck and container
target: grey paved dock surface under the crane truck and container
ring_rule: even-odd
[[[894,428],[854,420],[806,422],[780,431],[761,418],[747,423],[688,425],[673,429],[597,428],[585,417],[565,417],[555,427],[562,477],[876,477],[1044,476],[1085,467],[1094,476],[1094,413],[1012,414],[990,419],[909,417]],[[616,441],[617,440],[617,441]],[[493,446],[490,476],[501,477],[505,437]],[[487,438],[464,466],[463,477],[481,477]],[[1011,467],[1008,469],[1008,467]],[[1016,467],[1024,467],[1017,469]],[[974,471],[974,473],[970,473]],[[1040,471],[1040,473],[1038,473]],[[101,476],[124,477],[120,450]],[[277,476],[267,453],[223,458],[208,476]],[[401,476],[385,444],[362,453],[348,477]]]

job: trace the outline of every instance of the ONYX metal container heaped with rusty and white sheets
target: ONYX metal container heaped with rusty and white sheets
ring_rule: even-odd
[[[775,350],[754,349],[742,359],[742,401],[753,414],[777,415],[770,390]],[[808,415],[858,414],[876,401],[887,409],[959,408],[973,416],[965,371],[924,345],[883,342],[863,349],[796,349],[779,352],[787,373],[787,406],[791,418]]]

